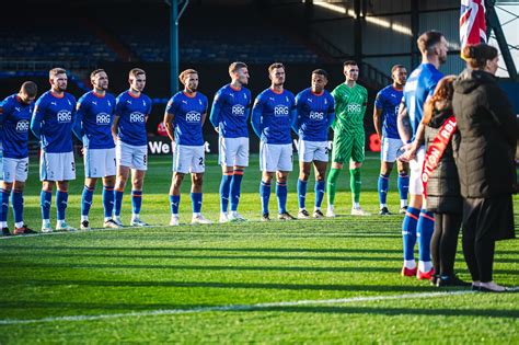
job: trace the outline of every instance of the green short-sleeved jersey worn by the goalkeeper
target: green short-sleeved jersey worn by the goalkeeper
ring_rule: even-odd
[[[332,91],[335,100],[334,130],[364,133],[364,115],[368,104],[368,91],[359,85],[349,88],[343,83]]]

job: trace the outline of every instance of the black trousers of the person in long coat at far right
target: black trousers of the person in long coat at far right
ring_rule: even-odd
[[[463,199],[463,255],[473,281],[493,280],[496,241],[514,237],[511,195]]]

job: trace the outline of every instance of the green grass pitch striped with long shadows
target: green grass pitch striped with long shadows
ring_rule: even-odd
[[[68,220],[79,227],[82,164]],[[240,211],[247,223],[166,227],[171,159],[150,160],[141,218],[157,227],[0,240],[0,344],[32,343],[441,343],[519,344],[519,295],[439,289],[400,276],[402,216],[377,216],[379,161],[368,154],[361,205],[347,216],[348,172],[336,219],[258,222],[257,156],[245,171]],[[220,168],[209,156],[204,215],[218,220]],[[289,211],[297,214],[297,173]],[[390,210],[399,208],[396,174]],[[185,180],[181,221],[191,220]],[[26,222],[38,229],[39,182],[32,160]],[[56,208],[53,196],[53,226]],[[313,204],[313,181],[308,205]],[[123,220],[130,217],[129,188]],[[515,197],[516,225],[519,198]],[[309,207],[311,208],[311,207]],[[270,198],[276,214],[276,198]],[[91,210],[102,225],[101,186]],[[9,215],[12,229],[12,215]],[[517,226],[516,226],[517,230]],[[497,243],[495,280],[519,285],[519,244]],[[457,271],[469,280],[461,254]]]

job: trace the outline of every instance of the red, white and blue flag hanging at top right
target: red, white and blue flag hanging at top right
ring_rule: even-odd
[[[462,51],[463,47],[469,44],[486,43],[485,7],[483,0],[461,0],[460,42]]]

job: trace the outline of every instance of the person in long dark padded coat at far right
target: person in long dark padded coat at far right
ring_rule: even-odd
[[[457,154],[463,196],[463,254],[472,286],[482,291],[507,289],[493,281],[495,242],[515,238],[512,193],[518,124],[496,78],[497,49],[466,46],[465,69],[454,81],[452,107],[461,141]]]

